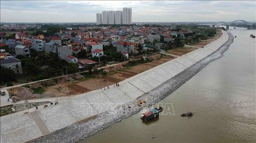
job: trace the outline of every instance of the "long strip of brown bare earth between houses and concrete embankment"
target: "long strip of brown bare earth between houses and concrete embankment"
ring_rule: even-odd
[[[16,87],[9,90],[9,93],[15,95],[15,99],[29,99],[29,98],[53,98],[53,97],[61,97],[61,96],[70,96],[77,95],[81,93],[86,93],[92,90],[101,89],[103,87],[113,86],[124,79],[128,79],[131,76],[137,75],[138,73],[142,73],[145,70],[151,69],[152,67],[156,67],[157,65],[163,64],[164,62],[170,61],[174,59],[173,56],[161,56],[160,54],[156,54],[150,56],[151,62],[138,64],[131,67],[123,67],[124,63],[116,64],[114,67],[117,70],[110,71],[107,76],[102,77],[99,74],[93,74],[92,76],[84,77],[81,76],[79,78],[71,77],[59,79],[56,84],[50,84],[48,86],[42,85],[44,88],[43,92],[40,94],[34,94],[31,87]],[[122,65],[121,65],[122,64]],[[105,68],[105,70],[110,70],[110,67]],[[48,81],[49,82],[49,81]],[[36,83],[32,84],[32,87],[40,87]],[[25,93],[24,93],[25,92]],[[19,94],[22,93],[22,94]]]

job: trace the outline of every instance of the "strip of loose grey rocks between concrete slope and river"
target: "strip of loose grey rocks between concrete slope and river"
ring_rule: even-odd
[[[207,64],[223,56],[223,53],[226,50],[228,50],[229,46],[233,43],[234,39],[233,35],[230,32],[227,33],[229,34],[227,42],[221,45],[221,47],[215,50],[215,52],[206,56],[204,59],[201,59],[200,61],[196,62],[191,67],[186,68],[185,70],[178,73],[171,79],[165,81],[163,84],[160,84],[153,90],[138,97],[136,100],[129,102],[128,104],[131,107],[131,109],[127,107],[128,104],[125,104],[120,107],[117,107],[118,110],[115,114],[110,113],[109,111],[103,112],[99,114],[96,118],[88,122],[74,123],[71,126],[67,126],[63,129],[49,133],[45,136],[30,140],[28,141],[28,143],[78,142],[79,140],[83,140],[91,135],[96,134],[97,132],[100,132],[102,129],[112,126],[114,123],[122,121],[122,119],[128,118],[131,115],[140,112],[143,109],[143,107],[150,107],[154,105],[154,103],[158,103],[159,101],[166,98],[170,93],[177,90],[186,81],[191,79],[195,74],[201,71]],[[147,103],[143,107],[138,107],[137,100],[144,100],[147,101]]]

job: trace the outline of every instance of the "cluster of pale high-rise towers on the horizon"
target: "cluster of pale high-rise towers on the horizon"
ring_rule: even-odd
[[[102,11],[96,14],[97,25],[99,24],[131,24],[131,8],[123,8],[122,11]]]

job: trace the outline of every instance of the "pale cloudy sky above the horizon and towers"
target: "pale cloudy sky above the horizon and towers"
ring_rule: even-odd
[[[96,13],[132,8],[132,22],[256,21],[256,1],[1,0],[0,22],[96,22]]]

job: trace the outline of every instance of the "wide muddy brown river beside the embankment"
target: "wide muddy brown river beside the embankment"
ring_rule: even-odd
[[[237,37],[224,56],[160,102],[172,103],[175,115],[150,122],[132,115],[80,143],[255,142],[256,31],[230,29]],[[190,111],[192,117],[180,117]]]

